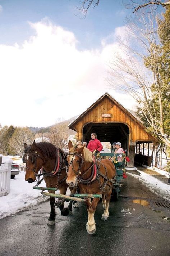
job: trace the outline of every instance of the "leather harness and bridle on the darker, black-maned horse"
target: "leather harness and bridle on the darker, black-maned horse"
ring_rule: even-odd
[[[67,179],[67,177],[64,177],[62,180],[59,181],[59,176],[60,176],[61,170],[67,168],[66,166],[61,168],[61,165],[62,165],[62,163],[64,163],[64,161],[62,160],[62,156],[61,156],[61,153],[59,151],[59,148],[57,148],[57,152],[56,152],[57,154],[56,154],[56,162],[55,162],[54,170],[50,171],[50,172],[45,172],[45,171],[43,171],[43,167],[42,167],[40,174],[38,174],[39,170],[38,170],[37,173],[35,172],[35,170],[36,170],[36,163],[37,163],[37,158],[41,158],[42,161],[44,161],[43,158],[37,153],[37,151],[26,151],[24,153],[24,155],[23,155],[23,163],[27,164],[27,159],[29,157],[28,153],[32,153],[33,154],[33,156],[32,156],[32,164],[34,164],[34,168],[26,167],[26,169],[33,171],[34,175],[36,177],[38,176],[38,183],[37,183],[36,186],[38,186],[41,183],[41,181],[44,179],[44,177],[50,177],[50,176],[55,177],[55,176],[58,176],[58,183],[62,183],[64,180]],[[45,164],[45,162],[43,162],[43,165],[44,164]],[[43,175],[43,178],[41,180],[39,180],[41,175]]]

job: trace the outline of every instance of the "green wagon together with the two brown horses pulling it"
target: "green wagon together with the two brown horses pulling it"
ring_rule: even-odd
[[[104,208],[101,217],[103,221],[109,217],[111,195],[114,199],[118,199],[123,180],[125,154],[120,156],[120,154],[101,153],[95,158],[87,148],[74,147],[70,141],[69,153],[65,155],[61,149],[46,142],[37,144],[33,142],[29,147],[24,144],[24,147],[25,180],[32,183],[36,177],[40,178],[43,175],[46,182],[46,188],[38,187],[40,181],[33,188],[41,189],[41,194],[50,196],[49,225],[55,224],[55,206],[58,206],[61,214],[66,216],[72,210],[73,201],[83,201],[86,202],[88,211],[86,230],[89,234],[95,233],[94,214],[100,198],[102,197]],[[118,162],[118,156],[122,158],[122,162]],[[105,157],[110,157],[110,160]],[[40,169],[42,173],[38,174]],[[72,193],[70,196],[65,195],[67,187]],[[55,194],[58,189],[60,194]],[[48,193],[44,192],[45,190],[48,190]],[[56,202],[55,197],[59,198]],[[64,208],[64,201],[70,201],[67,208]]]

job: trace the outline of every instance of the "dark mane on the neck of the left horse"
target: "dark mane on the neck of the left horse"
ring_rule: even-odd
[[[56,158],[57,148],[50,142],[38,142],[36,143],[36,147],[41,151],[45,158]]]

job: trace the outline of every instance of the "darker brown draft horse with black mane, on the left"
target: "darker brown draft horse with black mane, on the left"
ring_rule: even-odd
[[[24,143],[23,162],[26,163],[25,180],[32,183],[36,180],[38,172],[41,169],[43,178],[47,188],[57,188],[60,194],[66,194],[68,184],[66,183],[67,161],[64,163],[64,152],[60,148],[56,148],[49,142],[33,142],[29,147]],[[71,188],[70,190],[72,190]],[[55,191],[49,190],[50,193]],[[50,197],[50,217],[48,225],[55,224],[55,205],[58,205],[61,214],[67,216],[72,210],[72,201],[70,201],[68,208],[64,208],[63,200],[58,200],[55,203],[55,198]]]

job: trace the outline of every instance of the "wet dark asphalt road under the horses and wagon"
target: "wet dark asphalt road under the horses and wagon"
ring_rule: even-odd
[[[132,202],[143,199],[147,206]],[[0,256],[169,256],[170,208],[157,208],[162,198],[149,192],[138,179],[124,179],[117,202],[110,203],[108,221],[102,221],[102,203],[96,214],[96,233],[86,232],[84,203],[72,215],[47,225],[49,201],[0,220]]]

